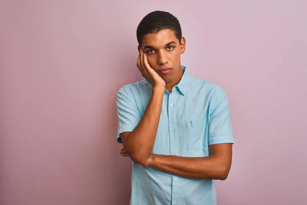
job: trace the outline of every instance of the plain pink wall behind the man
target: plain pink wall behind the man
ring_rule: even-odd
[[[141,79],[136,27],[153,10],[179,17],[190,74],[228,94],[218,204],[307,203],[306,1],[103,2],[1,1],[1,205],[128,204],[115,100]]]

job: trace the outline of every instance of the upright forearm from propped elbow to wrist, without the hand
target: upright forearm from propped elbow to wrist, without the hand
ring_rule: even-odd
[[[142,119],[124,142],[124,149],[130,158],[138,163],[146,162],[155,144],[164,91],[162,88],[153,88],[152,96]]]

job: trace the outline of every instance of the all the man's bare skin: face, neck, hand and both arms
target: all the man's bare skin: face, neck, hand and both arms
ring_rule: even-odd
[[[186,40],[181,42],[172,30],[149,33],[138,46],[137,67],[152,85],[152,97],[144,115],[133,132],[121,134],[123,149],[120,154],[130,157],[143,167],[155,167],[162,171],[198,179],[225,180],[232,161],[232,144],[210,145],[209,157],[178,157],[152,154],[160,119],[165,89],[170,93],[182,75],[181,54],[185,52]],[[171,68],[167,74],[161,70]]]

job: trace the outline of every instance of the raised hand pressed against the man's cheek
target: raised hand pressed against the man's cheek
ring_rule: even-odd
[[[142,76],[148,81],[148,83],[151,84],[152,88],[154,87],[161,87],[165,88],[165,81],[162,79],[162,77],[156,73],[155,70],[153,70],[147,61],[147,56],[143,52],[143,50],[140,50],[137,66],[142,73]]]

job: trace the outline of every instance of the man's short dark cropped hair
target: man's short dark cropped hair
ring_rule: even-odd
[[[179,20],[166,11],[153,11],[148,13],[140,22],[137,28],[137,39],[141,46],[143,36],[148,33],[158,33],[161,30],[170,29],[174,31],[179,43],[181,42],[182,32]]]

